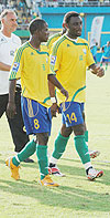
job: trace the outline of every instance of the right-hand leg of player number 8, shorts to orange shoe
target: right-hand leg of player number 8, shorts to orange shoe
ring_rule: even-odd
[[[40,118],[41,117],[41,118]],[[52,115],[51,108],[38,104],[38,114],[37,114],[37,145],[36,145],[36,156],[40,167],[41,174],[41,185],[42,186],[58,186],[58,184],[54,183],[48,175],[48,157],[47,157],[47,142],[48,136],[51,135],[51,126],[52,126]]]

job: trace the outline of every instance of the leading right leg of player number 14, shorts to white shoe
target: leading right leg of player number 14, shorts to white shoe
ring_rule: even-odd
[[[72,128],[75,134],[75,138],[74,138],[75,147],[81,159],[81,163],[84,164],[88,179],[94,180],[95,178],[102,176],[103,172],[102,170],[97,172],[96,169],[94,169],[90,162],[88,146],[85,141],[85,125],[84,125],[84,118],[81,113],[81,104],[76,103],[76,108],[74,110],[74,113],[76,116],[76,125],[74,125],[73,123]]]

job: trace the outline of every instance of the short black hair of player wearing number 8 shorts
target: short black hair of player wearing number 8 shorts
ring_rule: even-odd
[[[45,20],[35,18],[34,20],[30,22],[30,25],[29,25],[30,33],[33,35],[36,30],[41,31],[44,28],[45,23],[46,23]]]

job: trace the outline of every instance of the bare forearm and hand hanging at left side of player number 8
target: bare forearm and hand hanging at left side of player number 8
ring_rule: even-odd
[[[7,105],[7,115],[10,118],[13,118],[13,116],[16,114],[15,101],[14,101],[15,84],[16,84],[16,80],[9,81],[9,102]]]

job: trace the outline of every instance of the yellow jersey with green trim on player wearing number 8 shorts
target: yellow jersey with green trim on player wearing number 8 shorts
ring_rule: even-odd
[[[21,79],[22,95],[50,107],[52,102],[48,92],[48,74],[50,63],[46,46],[41,45],[38,51],[26,42],[15,53],[9,80]]]

